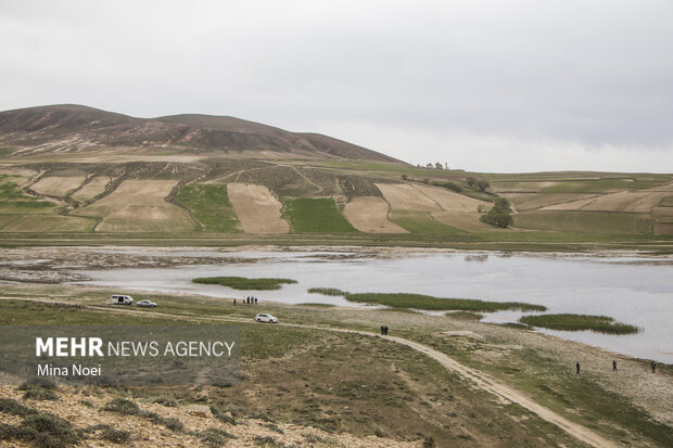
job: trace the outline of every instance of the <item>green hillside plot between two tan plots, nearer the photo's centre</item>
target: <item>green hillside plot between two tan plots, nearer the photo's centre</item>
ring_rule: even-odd
[[[339,213],[331,197],[299,197],[283,202],[283,213],[295,233],[357,232]]]

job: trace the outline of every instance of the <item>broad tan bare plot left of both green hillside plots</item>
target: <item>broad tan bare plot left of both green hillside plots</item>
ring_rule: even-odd
[[[187,212],[165,201],[177,180],[127,180],[107,196],[76,210],[101,217],[100,232],[180,232],[194,228]]]

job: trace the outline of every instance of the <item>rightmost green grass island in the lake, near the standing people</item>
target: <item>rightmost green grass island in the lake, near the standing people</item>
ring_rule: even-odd
[[[637,333],[638,328],[627,323],[615,322],[607,316],[588,315],[539,315],[523,316],[519,322],[549,330],[583,331],[591,330],[607,334]]]

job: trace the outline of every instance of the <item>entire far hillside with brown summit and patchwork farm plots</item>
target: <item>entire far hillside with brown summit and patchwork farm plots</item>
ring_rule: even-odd
[[[232,117],[134,118],[77,105],[2,112],[0,157],[5,240],[151,234],[559,249],[634,239],[670,246],[673,235],[671,175],[427,169]],[[480,191],[470,178],[490,187]],[[509,229],[480,221],[497,197],[513,208]]]

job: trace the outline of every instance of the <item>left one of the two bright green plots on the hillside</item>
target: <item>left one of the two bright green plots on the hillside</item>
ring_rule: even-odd
[[[242,232],[227,185],[194,183],[180,189],[177,201],[189,208],[206,232]]]

